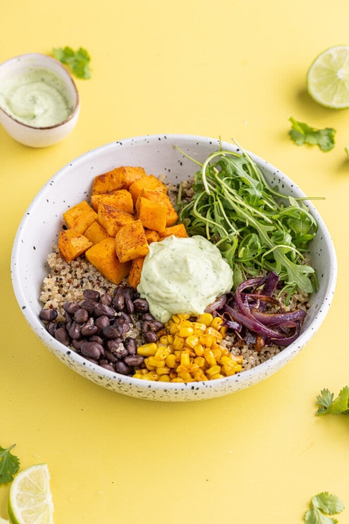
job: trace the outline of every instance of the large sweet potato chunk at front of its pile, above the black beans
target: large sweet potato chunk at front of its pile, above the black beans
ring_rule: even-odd
[[[87,249],[85,256],[102,275],[114,284],[127,277],[131,263],[122,263],[115,251],[115,238],[108,237]]]

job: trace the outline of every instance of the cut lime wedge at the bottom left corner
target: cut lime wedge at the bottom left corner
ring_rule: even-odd
[[[14,478],[8,514],[13,524],[53,524],[50,473],[47,464],[36,464]]]

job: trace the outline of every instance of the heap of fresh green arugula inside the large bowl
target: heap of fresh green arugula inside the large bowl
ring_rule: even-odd
[[[316,275],[303,253],[317,223],[302,200],[272,189],[245,152],[217,151],[199,165],[193,198],[182,201],[179,192],[179,221],[189,235],[216,244],[233,268],[234,287],[267,269],[290,289],[315,290]]]

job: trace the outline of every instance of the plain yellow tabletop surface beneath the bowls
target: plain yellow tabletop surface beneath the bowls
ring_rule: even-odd
[[[60,144],[30,149],[0,129],[0,444],[17,444],[21,467],[48,463],[56,524],[295,524],[322,490],[349,522],[349,419],[314,416],[323,387],[349,383],[349,112],[305,91],[314,57],[349,43],[347,0],[19,0],[1,18],[0,61],[84,46],[93,71],[76,80],[81,116]],[[334,127],[335,148],[297,147],[290,116]],[[89,149],[152,133],[234,137],[326,197],[317,207],[339,261],[330,312],[291,363],[228,397],[166,404],[104,390],[46,350],[12,291],[13,238],[41,186]]]

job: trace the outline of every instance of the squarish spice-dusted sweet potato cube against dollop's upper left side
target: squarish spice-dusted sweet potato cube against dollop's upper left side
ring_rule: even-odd
[[[115,248],[121,262],[145,257],[149,253],[147,237],[140,220],[119,229],[115,236]]]

